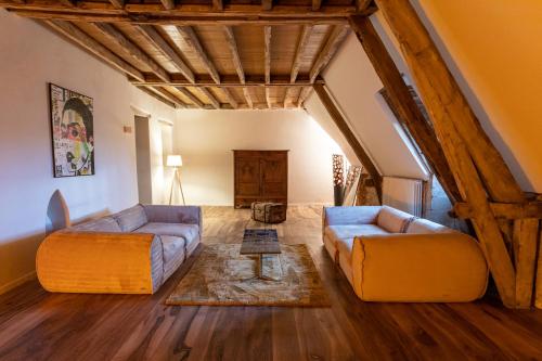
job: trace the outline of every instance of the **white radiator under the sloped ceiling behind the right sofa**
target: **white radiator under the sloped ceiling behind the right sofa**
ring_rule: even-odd
[[[423,181],[420,179],[384,177],[383,203],[387,206],[422,217]]]

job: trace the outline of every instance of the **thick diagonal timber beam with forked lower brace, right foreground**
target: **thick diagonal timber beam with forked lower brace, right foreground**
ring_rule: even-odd
[[[404,0],[376,0],[376,4],[400,43],[462,198],[476,209],[473,225],[501,299],[505,306],[516,307],[515,270],[488,193],[493,201],[511,203],[521,201],[522,193],[412,5]]]

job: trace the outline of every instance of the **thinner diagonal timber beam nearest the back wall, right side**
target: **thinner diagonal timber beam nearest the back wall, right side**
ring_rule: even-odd
[[[373,179],[374,185],[376,189],[376,193],[378,194],[378,198],[382,202],[382,176],[380,176],[380,172],[376,169],[375,165],[373,164],[373,160],[366,154],[363,146],[360,144],[358,138],[350,129],[350,126],[348,125],[348,123],[345,120],[345,118],[343,118],[340,111],[335,105],[335,102],[333,101],[331,95],[327,93],[327,90],[324,88],[324,86],[323,85],[314,85],[313,88],[314,88],[315,93],[320,98],[320,101],[322,102],[324,107],[327,109],[327,113],[330,114],[331,118],[333,119],[333,121],[335,123],[337,128],[340,130],[340,132],[345,137],[348,144],[352,147],[352,150],[356,153],[356,156],[358,157],[360,163],[363,165],[363,168],[365,168],[369,176],[371,176],[371,178]]]

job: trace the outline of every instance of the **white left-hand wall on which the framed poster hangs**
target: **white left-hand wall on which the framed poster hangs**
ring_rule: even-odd
[[[24,39],[24,40],[23,40]],[[40,25],[0,11],[0,293],[34,275],[36,249],[60,190],[72,218],[138,202],[131,105],[152,119],[173,109]],[[94,100],[95,176],[53,178],[48,82]],[[154,121],[154,120],[153,120]]]

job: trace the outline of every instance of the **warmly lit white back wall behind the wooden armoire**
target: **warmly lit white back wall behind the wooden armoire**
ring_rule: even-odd
[[[333,202],[343,152],[304,111],[179,111],[173,133],[189,204],[233,205],[232,150],[289,150],[289,203]]]

